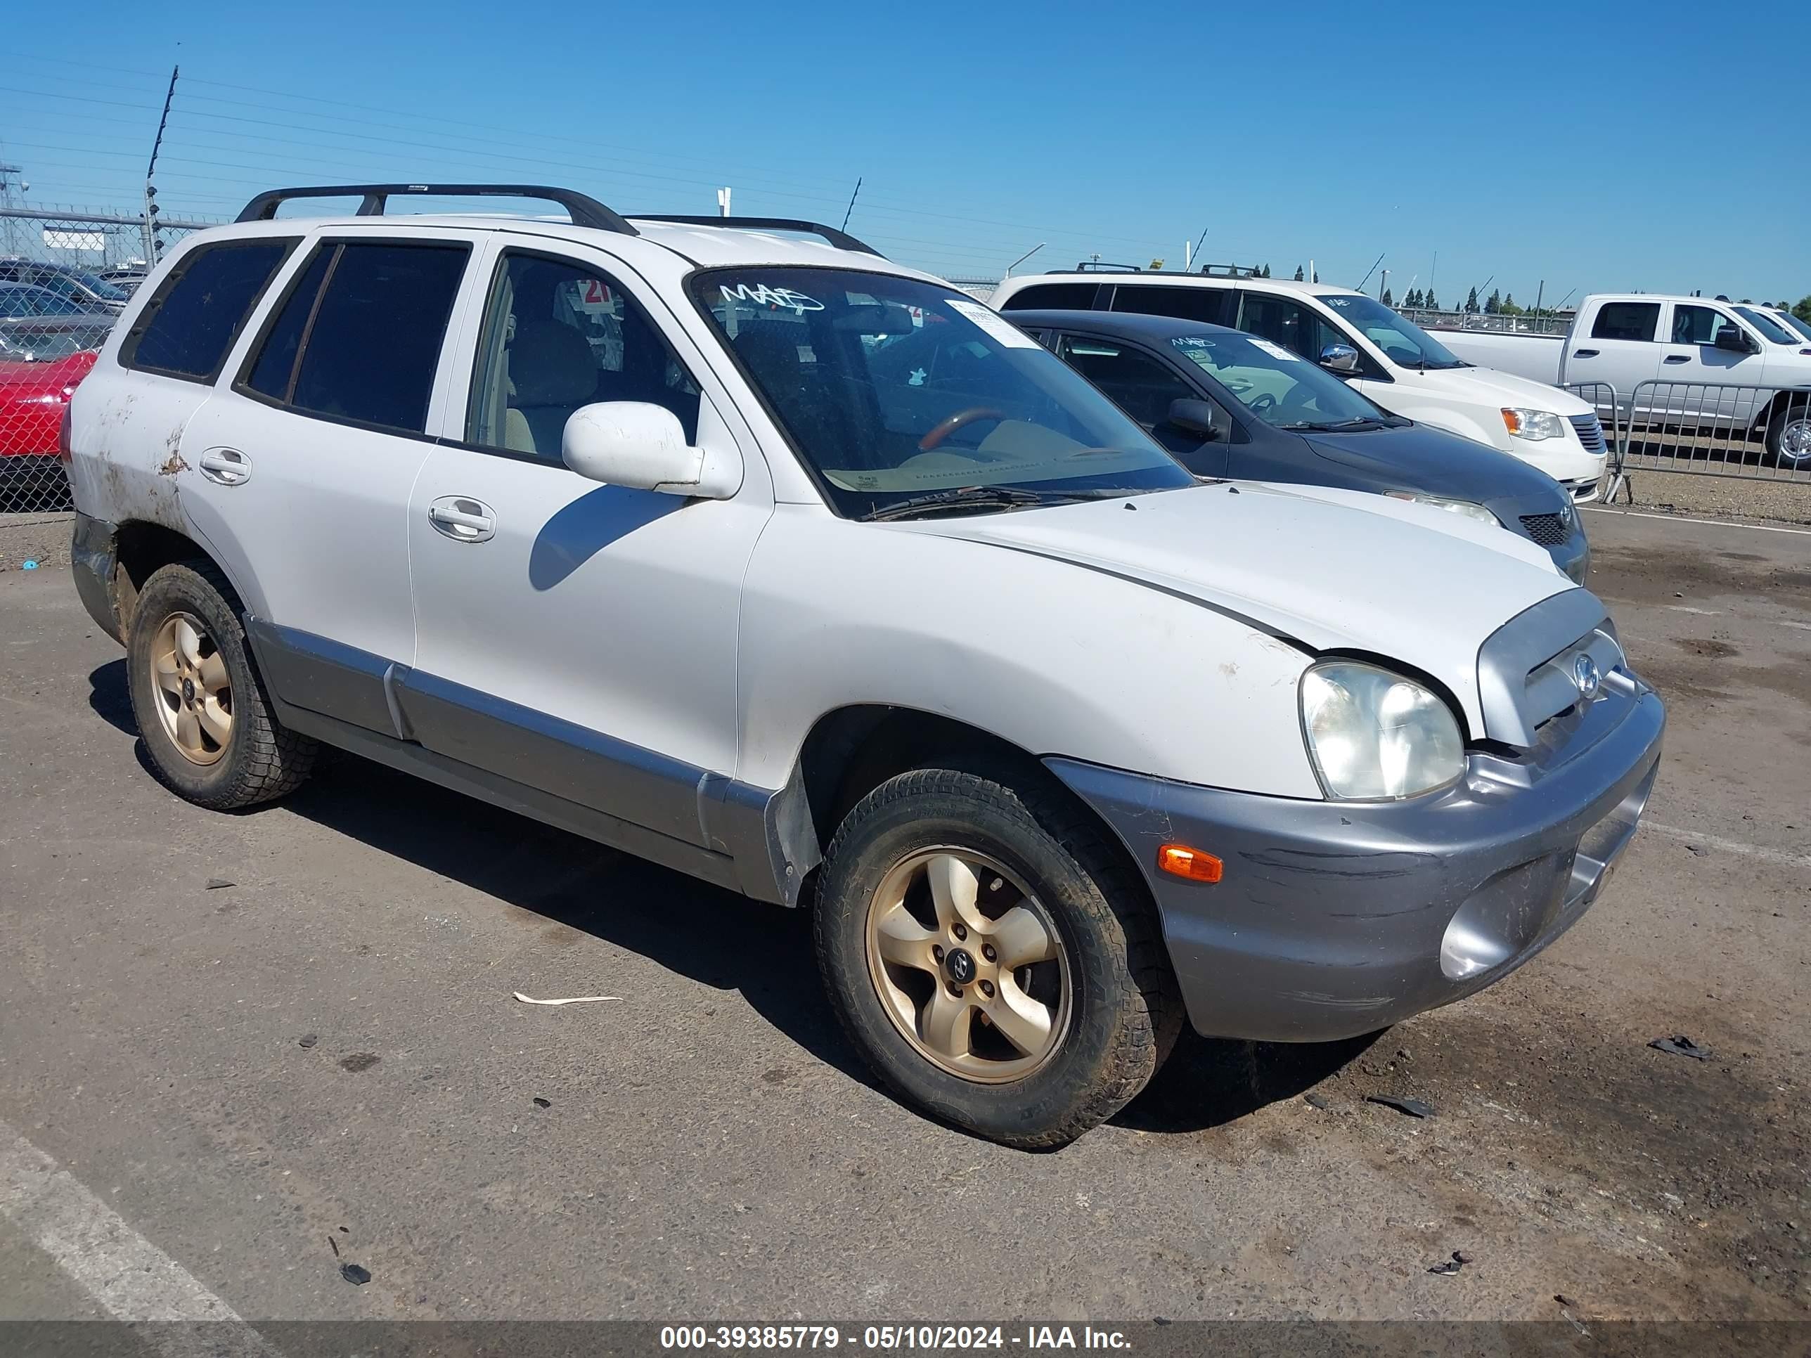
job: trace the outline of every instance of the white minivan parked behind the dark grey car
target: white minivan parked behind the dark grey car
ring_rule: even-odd
[[[1146,311],[1262,335],[1338,373],[1394,415],[1510,453],[1581,503],[1597,498],[1606,447],[1592,406],[1512,373],[1474,368],[1351,288],[1116,268],[1007,279],[989,302],[1000,311]]]

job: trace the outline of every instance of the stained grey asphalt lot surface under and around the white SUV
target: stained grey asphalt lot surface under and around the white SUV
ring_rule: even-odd
[[[1373,1039],[1188,1038],[1112,1124],[1045,1155],[877,1090],[797,914],[351,759],[252,815],[176,800],[139,766],[120,648],[67,570],[0,574],[14,1208],[42,1170],[71,1213],[254,1322],[1802,1334],[1811,536],[1588,529],[1592,585],[1672,710],[1606,898],[1501,985]],[[1708,1059],[1648,1045],[1673,1036]],[[118,1280],[34,1220],[0,1211],[0,1318],[101,1315]],[[1454,1251],[1456,1273],[1431,1271]]]

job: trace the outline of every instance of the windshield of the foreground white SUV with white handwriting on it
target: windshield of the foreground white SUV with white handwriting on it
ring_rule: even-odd
[[[971,487],[1059,502],[1193,485],[1068,364],[947,286],[735,268],[692,292],[846,516]]]

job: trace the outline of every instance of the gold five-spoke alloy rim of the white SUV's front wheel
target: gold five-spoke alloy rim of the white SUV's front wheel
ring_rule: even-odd
[[[900,1034],[963,1079],[1023,1079],[1068,1030],[1056,923],[1023,882],[973,849],[925,849],[893,865],[867,905],[867,972]]]

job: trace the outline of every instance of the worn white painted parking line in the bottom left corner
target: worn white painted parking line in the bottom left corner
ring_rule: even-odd
[[[141,1325],[138,1336],[161,1353],[277,1358],[226,1302],[5,1123],[0,1215],[116,1320],[216,1322],[201,1334],[192,1325]]]

